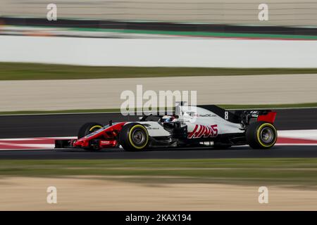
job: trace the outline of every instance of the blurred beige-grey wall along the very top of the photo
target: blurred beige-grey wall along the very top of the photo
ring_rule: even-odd
[[[316,0],[0,0],[0,16],[43,18],[51,3],[59,18],[317,26]],[[268,21],[258,19],[261,3],[268,4]]]

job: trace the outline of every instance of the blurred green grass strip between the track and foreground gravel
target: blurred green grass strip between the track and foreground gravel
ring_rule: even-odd
[[[132,182],[206,182],[316,188],[317,158],[0,160],[0,176],[78,175]]]

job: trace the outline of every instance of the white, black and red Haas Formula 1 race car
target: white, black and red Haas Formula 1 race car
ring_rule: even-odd
[[[175,113],[177,112],[177,113]],[[249,145],[267,149],[274,146],[276,113],[271,110],[224,110],[216,105],[178,105],[171,115],[143,116],[137,122],[84,124],[77,139],[56,140],[55,148],[101,150],[120,147],[128,151],[149,148],[230,148]]]

